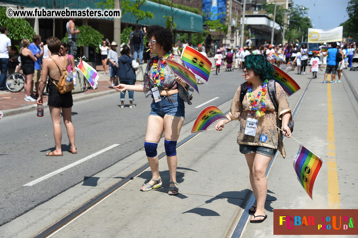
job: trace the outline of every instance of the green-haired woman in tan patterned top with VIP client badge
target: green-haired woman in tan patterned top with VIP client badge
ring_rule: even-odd
[[[227,115],[229,121],[239,120],[240,131],[237,143],[240,152],[245,154],[248,168],[250,169],[250,183],[256,202],[252,205],[249,213],[253,214],[252,223],[260,223],[267,218],[265,215],[265,200],[267,195],[266,170],[277,150],[285,158],[286,152],[282,144],[282,134],[276,125],[280,125],[286,137],[291,136],[288,127],[291,118],[291,110],[286,98],[285,91],[279,83],[275,83],[276,101],[278,111],[275,110],[270,96],[266,94],[268,79],[272,78],[274,68],[262,55],[245,56],[245,80],[241,84],[231,102],[230,111]],[[241,92],[241,88],[247,85]],[[243,99],[240,95],[243,95]],[[215,128],[222,130],[228,120],[219,121]]]

